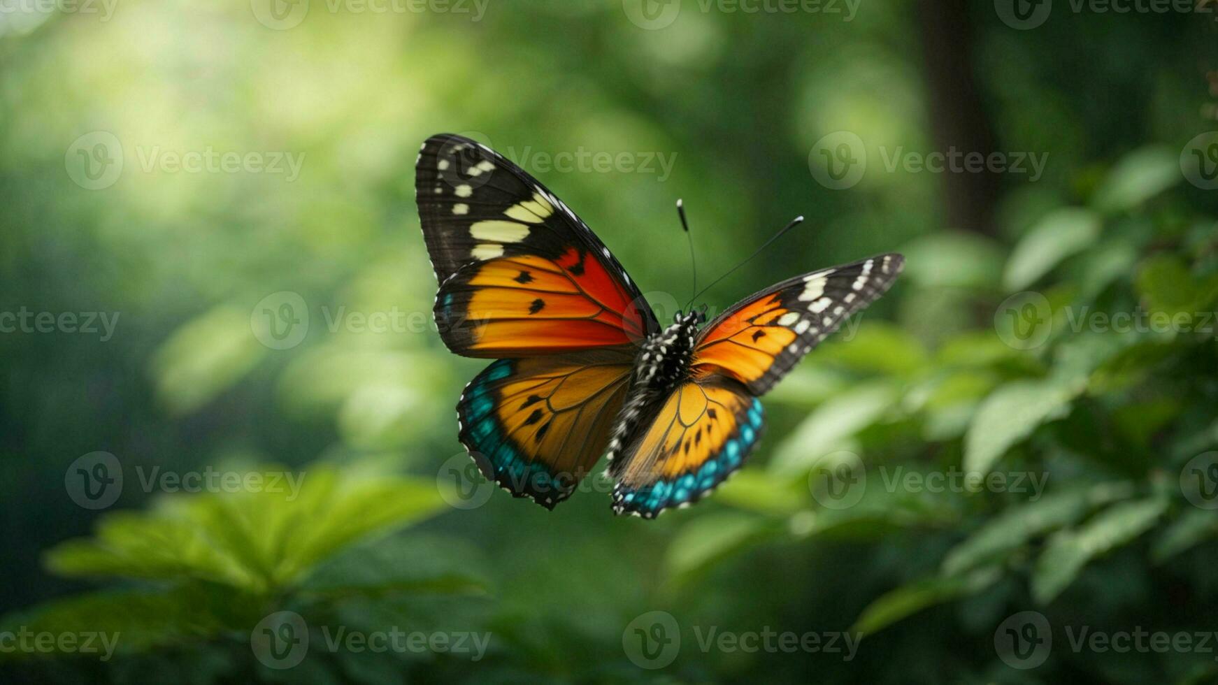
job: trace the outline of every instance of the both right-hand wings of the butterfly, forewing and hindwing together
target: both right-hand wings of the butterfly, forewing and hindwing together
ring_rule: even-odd
[[[694,343],[691,377],[610,465],[614,511],[652,518],[697,501],[739,468],[764,428],[758,395],[883,294],[903,265],[900,254],[881,254],[797,276],[708,324]]]

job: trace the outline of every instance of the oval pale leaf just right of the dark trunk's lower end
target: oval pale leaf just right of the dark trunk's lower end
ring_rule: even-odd
[[[1100,237],[1101,220],[1088,209],[1058,209],[1028,230],[1011,252],[1002,274],[1009,292],[1027,288],[1062,259],[1093,246]]]

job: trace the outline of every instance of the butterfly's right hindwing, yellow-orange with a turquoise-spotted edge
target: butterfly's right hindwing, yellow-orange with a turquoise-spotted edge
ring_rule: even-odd
[[[741,467],[765,425],[761,403],[739,382],[689,380],[672,391],[610,464],[615,513],[658,516],[692,504]]]

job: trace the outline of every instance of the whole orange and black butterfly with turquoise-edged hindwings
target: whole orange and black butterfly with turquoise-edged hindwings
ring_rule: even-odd
[[[423,144],[415,200],[453,353],[495,359],[457,404],[484,475],[553,509],[609,460],[611,509],[646,518],[738,470],[765,394],[900,273],[900,254],[812,271],[706,322],[661,326],[613,253],[561,200],[491,148]]]

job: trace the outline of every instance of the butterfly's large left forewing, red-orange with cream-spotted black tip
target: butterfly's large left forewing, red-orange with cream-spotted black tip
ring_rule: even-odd
[[[638,343],[658,324],[608,248],[560,200],[497,152],[435,135],[415,200],[451,350],[520,358]]]

